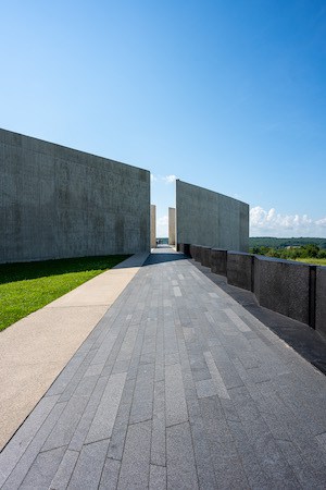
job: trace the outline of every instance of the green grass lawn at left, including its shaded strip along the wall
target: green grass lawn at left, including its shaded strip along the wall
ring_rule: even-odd
[[[0,330],[43,307],[126,255],[82,257],[0,266]]]

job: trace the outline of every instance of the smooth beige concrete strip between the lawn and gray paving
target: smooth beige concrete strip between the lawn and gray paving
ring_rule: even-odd
[[[0,333],[0,451],[148,256],[129,257]]]

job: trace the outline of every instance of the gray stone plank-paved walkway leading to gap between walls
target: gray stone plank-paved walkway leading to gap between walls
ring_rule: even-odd
[[[0,454],[3,489],[325,489],[326,378],[158,249]]]

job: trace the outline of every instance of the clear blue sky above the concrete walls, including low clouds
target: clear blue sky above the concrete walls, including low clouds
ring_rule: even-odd
[[[0,126],[241,199],[326,236],[325,0],[0,3]]]

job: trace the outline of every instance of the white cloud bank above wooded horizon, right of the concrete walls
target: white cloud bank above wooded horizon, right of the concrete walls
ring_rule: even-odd
[[[280,215],[275,208],[268,211],[261,206],[250,210],[251,236],[324,236],[326,217],[313,220],[308,215]]]

